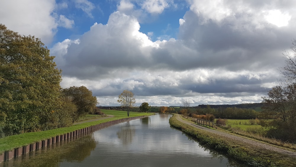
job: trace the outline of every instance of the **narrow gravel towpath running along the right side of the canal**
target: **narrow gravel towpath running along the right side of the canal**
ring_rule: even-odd
[[[230,139],[235,139],[235,140],[238,140],[240,142],[251,144],[251,145],[253,145],[253,147],[261,147],[261,148],[269,149],[269,150],[272,150],[272,151],[276,151],[276,152],[280,152],[280,153],[284,153],[284,154],[296,157],[296,152],[281,149],[279,147],[275,147],[275,146],[272,146],[272,145],[269,145],[269,144],[260,143],[258,141],[253,141],[253,140],[250,140],[250,139],[246,139],[244,137],[235,136],[235,135],[225,133],[225,132],[221,132],[221,131],[218,131],[218,130],[215,130],[215,129],[205,128],[203,126],[199,126],[199,125],[196,125],[196,124],[193,124],[193,123],[190,123],[188,121],[183,120],[180,117],[179,114],[177,115],[177,120],[182,122],[182,123],[186,123],[188,125],[191,125],[194,128],[199,128],[199,129],[201,129],[203,131],[207,131],[207,132],[210,132],[210,133],[215,133],[215,134],[225,136],[225,137],[230,138]]]

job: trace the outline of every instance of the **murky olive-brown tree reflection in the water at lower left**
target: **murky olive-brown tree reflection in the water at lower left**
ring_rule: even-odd
[[[9,160],[0,166],[60,166],[60,162],[74,161],[82,162],[91,155],[96,148],[96,142],[92,135],[87,135],[75,141],[55,143],[49,147],[30,152],[16,160]]]

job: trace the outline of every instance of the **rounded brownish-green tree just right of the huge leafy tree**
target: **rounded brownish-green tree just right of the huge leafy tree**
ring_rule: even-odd
[[[77,112],[72,114],[73,123],[79,117],[91,113],[98,104],[96,96],[92,96],[91,90],[88,90],[85,86],[65,88],[62,90],[62,94],[71,99],[77,107]]]

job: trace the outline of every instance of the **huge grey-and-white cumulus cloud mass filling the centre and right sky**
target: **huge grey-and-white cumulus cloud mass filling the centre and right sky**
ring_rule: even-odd
[[[126,12],[133,4],[121,1],[107,24],[95,23],[79,42],[55,45],[63,87],[86,85],[101,105],[117,105],[124,89],[151,105],[180,104],[183,97],[197,105],[260,102],[280,78],[281,53],[296,26],[292,8],[284,14],[288,25],[278,27],[263,11],[277,2],[188,2],[178,39],[151,41],[153,33],[141,33],[138,18]]]

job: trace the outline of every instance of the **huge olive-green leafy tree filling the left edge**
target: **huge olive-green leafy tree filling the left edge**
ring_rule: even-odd
[[[42,130],[59,108],[61,70],[53,59],[40,39],[0,24],[0,114],[5,135]]]

